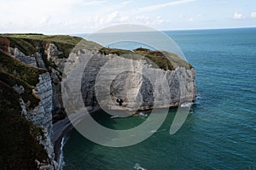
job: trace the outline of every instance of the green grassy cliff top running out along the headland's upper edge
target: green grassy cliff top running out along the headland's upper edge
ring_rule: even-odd
[[[175,70],[177,66],[183,66],[186,69],[191,69],[193,67],[187,61],[170,52],[153,51],[146,48],[137,48],[132,51],[117,48],[104,48],[96,42],[90,42],[81,37],[67,35],[46,36],[43,34],[0,34],[0,48],[1,46],[4,48],[1,42],[6,42],[6,44],[8,44],[7,46],[19,48],[20,51],[26,55],[38,52],[39,45],[47,46],[49,42],[54,42],[57,48],[63,52],[59,57],[67,58],[73,48],[79,43],[83,48],[97,50],[102,54],[117,54],[120,56],[125,56],[124,54],[136,54],[137,57],[142,56],[146,60],[153,61],[155,65],[158,65],[160,69],[164,70]],[[138,57],[137,59],[141,58]]]

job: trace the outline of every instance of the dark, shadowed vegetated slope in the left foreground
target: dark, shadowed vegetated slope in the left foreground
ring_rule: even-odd
[[[42,130],[21,115],[20,97],[28,108],[38,105],[39,99],[32,95],[32,89],[38,83],[43,69],[28,66],[13,59],[0,49],[0,168],[1,169],[37,169],[35,160],[48,161],[38,136]],[[24,88],[18,94],[14,86]]]

